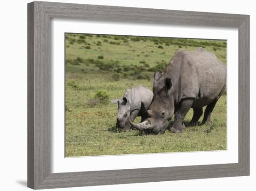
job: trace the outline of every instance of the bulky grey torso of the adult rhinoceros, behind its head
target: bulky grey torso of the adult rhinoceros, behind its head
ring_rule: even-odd
[[[167,76],[174,79],[177,102],[194,98],[203,107],[222,95],[226,86],[226,66],[203,48],[177,51],[170,61]]]

